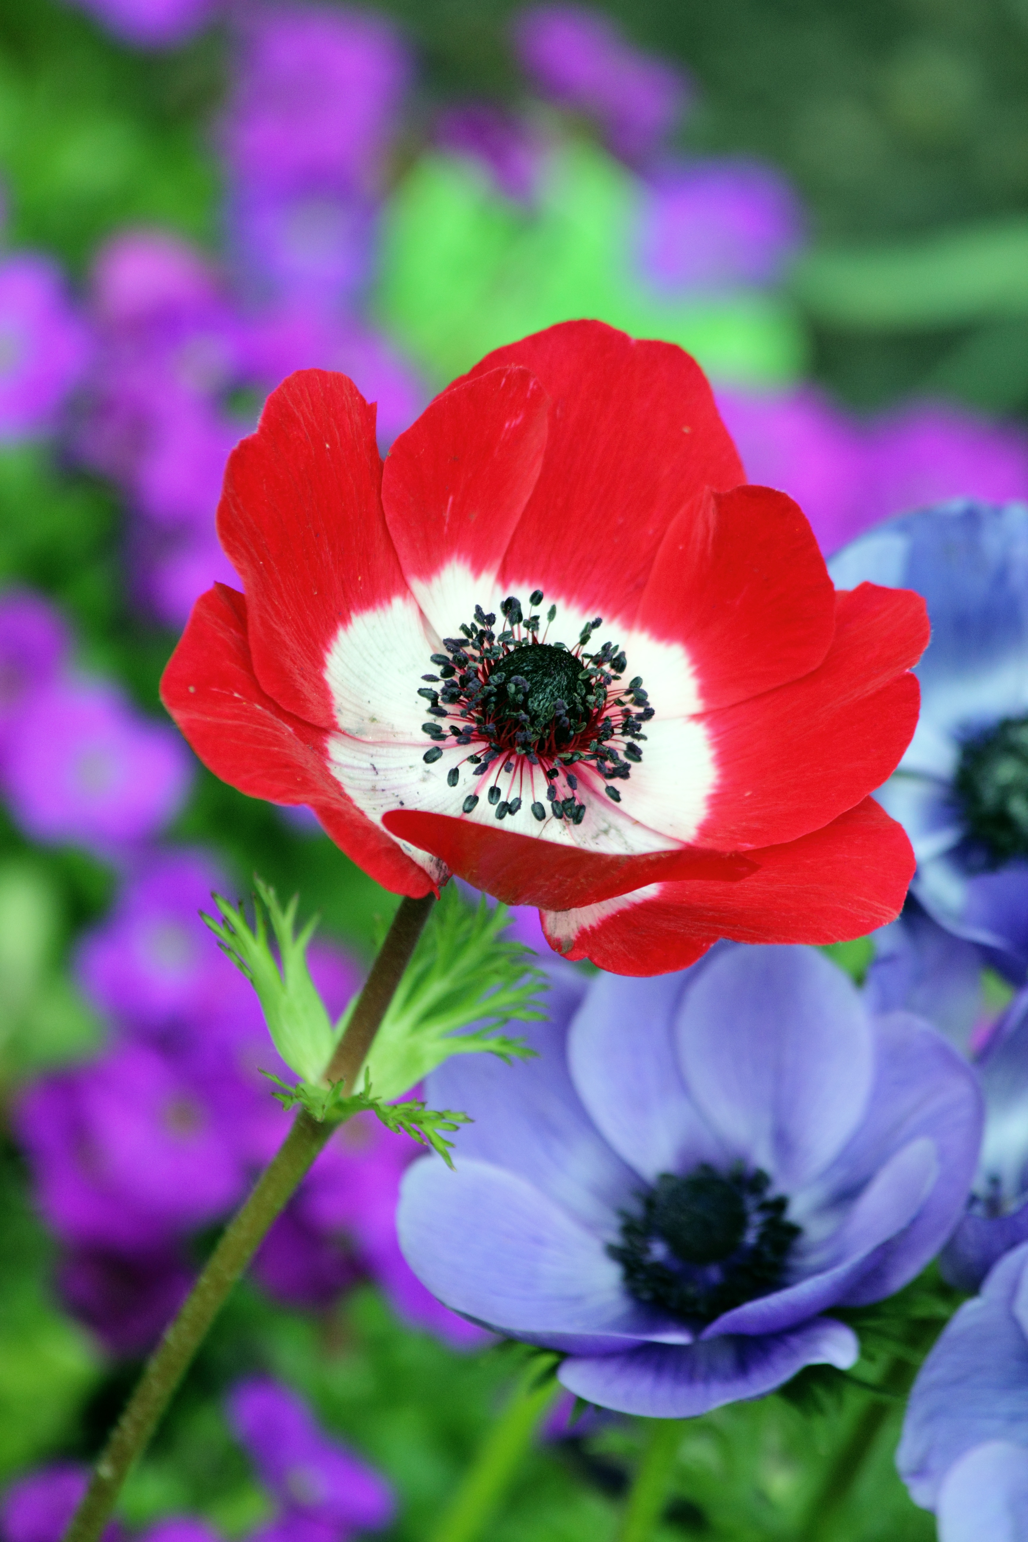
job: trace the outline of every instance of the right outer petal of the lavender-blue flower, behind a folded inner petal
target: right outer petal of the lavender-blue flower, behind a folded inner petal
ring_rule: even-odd
[[[939,1177],[923,1206],[874,1268],[845,1297],[848,1306],[882,1300],[912,1280],[957,1224],[982,1140],[982,1095],[966,1061],[926,1022],[906,1013],[874,1021],[875,1081],[860,1130],[821,1173],[806,1203],[832,1207],[852,1195],[911,1141],[932,1143]]]

